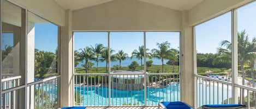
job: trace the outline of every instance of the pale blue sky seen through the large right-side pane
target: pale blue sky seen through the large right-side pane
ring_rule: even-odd
[[[220,42],[231,41],[231,12],[195,27],[198,53],[216,53]]]

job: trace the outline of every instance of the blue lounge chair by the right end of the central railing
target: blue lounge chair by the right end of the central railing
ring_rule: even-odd
[[[158,109],[162,107],[164,109],[193,109],[188,104],[181,102],[181,101],[175,101],[175,102],[160,102],[158,104]]]

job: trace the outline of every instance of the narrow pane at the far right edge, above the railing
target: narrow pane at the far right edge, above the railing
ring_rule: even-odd
[[[239,84],[255,87],[256,2],[237,9]]]

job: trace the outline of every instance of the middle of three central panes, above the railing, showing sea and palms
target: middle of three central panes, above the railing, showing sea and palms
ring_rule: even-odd
[[[111,71],[144,70],[144,33],[111,32]]]

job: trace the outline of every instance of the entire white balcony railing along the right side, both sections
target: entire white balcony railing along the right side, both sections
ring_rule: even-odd
[[[206,104],[231,104],[232,93],[235,93],[235,100],[239,104],[247,105],[247,108],[256,108],[256,88],[234,85],[232,89],[231,81],[195,75],[197,78],[197,107]]]

